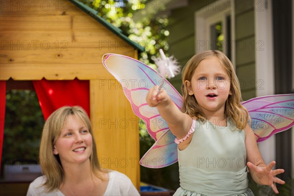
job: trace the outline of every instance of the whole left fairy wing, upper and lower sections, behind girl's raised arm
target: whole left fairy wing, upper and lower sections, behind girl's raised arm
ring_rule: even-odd
[[[120,54],[105,54],[102,63],[120,82],[133,112],[145,121],[149,135],[156,141],[140,164],[148,168],[161,168],[177,162],[177,145],[173,142],[175,136],[157,108],[147,105],[146,95],[150,88],[164,82],[162,89],[167,91],[179,109],[183,103],[182,96],[163,76],[136,59]]]

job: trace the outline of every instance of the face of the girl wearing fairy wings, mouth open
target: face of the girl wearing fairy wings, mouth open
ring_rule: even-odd
[[[230,78],[217,57],[202,60],[191,81],[186,80],[189,95],[194,95],[205,115],[224,114],[225,101],[230,91]]]

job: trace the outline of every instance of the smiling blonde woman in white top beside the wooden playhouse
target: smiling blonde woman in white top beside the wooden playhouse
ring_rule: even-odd
[[[87,113],[64,106],[46,121],[40,144],[43,176],[27,196],[139,196],[123,173],[102,170]]]

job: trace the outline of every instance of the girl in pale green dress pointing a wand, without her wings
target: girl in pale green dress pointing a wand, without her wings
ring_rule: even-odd
[[[275,162],[262,159],[230,60],[220,51],[199,53],[184,67],[182,81],[182,111],[163,89],[149,89],[146,98],[176,136],[180,188],[174,195],[253,196],[246,166],[256,183],[278,193],[275,183],[285,182],[275,175],[284,170],[271,170]]]

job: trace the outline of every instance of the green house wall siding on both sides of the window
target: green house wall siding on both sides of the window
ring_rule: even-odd
[[[173,9],[169,17],[169,53],[178,59],[183,67],[195,52],[195,12],[214,0],[189,0],[188,6]],[[213,4],[213,3],[211,3]],[[210,5],[209,5],[210,6]],[[254,1],[235,0],[236,73],[241,82],[244,100],[255,97],[258,85],[255,79],[255,29]],[[178,75],[170,80],[180,92],[182,84]]]

